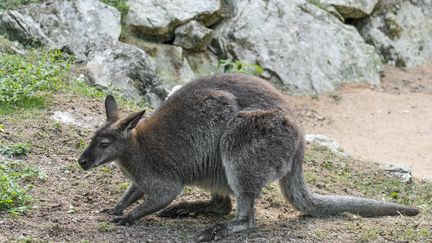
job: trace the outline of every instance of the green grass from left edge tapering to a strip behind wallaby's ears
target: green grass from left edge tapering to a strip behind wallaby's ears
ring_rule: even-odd
[[[83,77],[74,77],[72,67],[75,67],[73,59],[61,51],[31,50],[25,56],[0,55],[0,115],[47,108],[55,92],[72,92],[101,101],[106,94],[113,94],[123,108],[148,107],[111,90],[90,86]]]

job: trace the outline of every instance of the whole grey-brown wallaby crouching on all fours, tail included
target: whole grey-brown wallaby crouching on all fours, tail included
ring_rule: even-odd
[[[362,216],[417,215],[415,208],[351,196],[312,193],[304,181],[304,135],[281,92],[244,74],[221,74],[192,81],[170,96],[150,117],[144,111],[121,117],[112,96],[106,122],[79,158],[85,170],[117,161],[131,185],[120,202],[104,210],[122,215],[144,201],[118,225],[167,207],[184,186],[209,190],[208,202],[181,203],[159,215],[228,214],[235,219],[210,226],[197,241],[221,239],[255,226],[254,203],[261,188],[279,180],[283,196],[306,215],[350,212]]]

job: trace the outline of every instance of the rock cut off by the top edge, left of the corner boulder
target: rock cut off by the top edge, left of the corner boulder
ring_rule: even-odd
[[[334,6],[344,18],[357,19],[370,15],[378,0],[319,0],[318,2],[319,5]]]

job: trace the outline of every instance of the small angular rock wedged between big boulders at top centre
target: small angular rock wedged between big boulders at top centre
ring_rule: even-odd
[[[213,31],[197,21],[190,21],[175,30],[174,45],[183,49],[205,50],[213,39]]]

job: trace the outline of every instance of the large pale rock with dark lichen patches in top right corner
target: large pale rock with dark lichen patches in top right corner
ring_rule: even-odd
[[[432,1],[381,1],[356,24],[363,38],[385,62],[413,67],[432,62]]]

